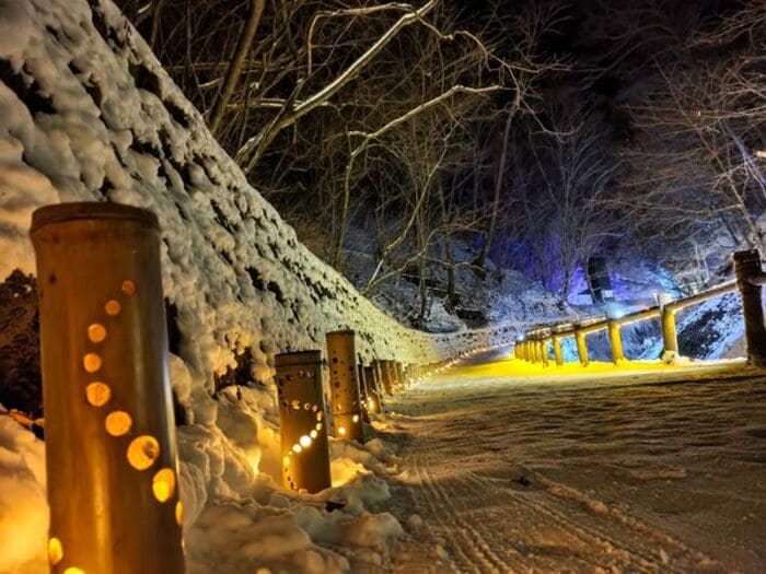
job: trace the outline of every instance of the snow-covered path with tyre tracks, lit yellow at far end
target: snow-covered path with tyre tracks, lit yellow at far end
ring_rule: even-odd
[[[765,572],[766,373],[601,370],[487,363],[398,396],[394,570]]]

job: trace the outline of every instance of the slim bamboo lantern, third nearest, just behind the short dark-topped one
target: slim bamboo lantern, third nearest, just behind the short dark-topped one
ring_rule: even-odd
[[[326,339],[335,436],[363,443],[364,425],[353,331],[328,332]]]

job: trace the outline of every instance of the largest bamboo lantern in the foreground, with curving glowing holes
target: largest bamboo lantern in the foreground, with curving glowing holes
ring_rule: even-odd
[[[184,572],[160,232],[149,211],[32,216],[50,571]]]

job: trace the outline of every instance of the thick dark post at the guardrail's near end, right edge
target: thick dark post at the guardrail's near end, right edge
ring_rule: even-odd
[[[757,249],[736,251],[733,255],[736,286],[742,296],[742,315],[745,323],[747,362],[766,366],[766,328],[761,298],[761,254]]]

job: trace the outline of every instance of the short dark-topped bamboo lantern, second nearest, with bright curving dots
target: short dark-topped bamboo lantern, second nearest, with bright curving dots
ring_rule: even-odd
[[[329,453],[322,352],[298,351],[275,358],[282,455],[282,484],[294,491],[328,489]]]

